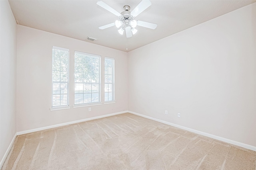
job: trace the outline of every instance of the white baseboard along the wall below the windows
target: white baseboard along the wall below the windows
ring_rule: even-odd
[[[93,120],[93,119],[100,119],[100,118],[103,118],[103,117],[118,115],[118,114],[127,113],[127,112],[128,112],[128,111],[121,111],[121,112],[117,112],[117,113],[111,113],[111,114],[108,114],[108,115],[90,117],[90,118],[86,118],[86,119],[80,119],[80,120],[76,120],[76,121],[70,121],[70,122],[66,122],[66,123],[60,123],[60,124],[57,124],[57,125],[51,125],[51,126],[46,126],[46,127],[40,127],[40,128],[36,128],[36,129],[30,129],[30,130],[27,130],[27,131],[20,131],[20,132],[17,132],[17,135],[23,135],[23,134],[26,134],[26,133],[31,133],[31,132],[36,132],[36,131],[42,131],[42,130],[45,130],[45,129],[51,129],[51,128],[54,128],[54,127],[60,127],[60,126],[64,126],[64,125],[70,125],[70,124],[79,123],[79,122],[82,122],[82,121],[89,121],[89,120]]]

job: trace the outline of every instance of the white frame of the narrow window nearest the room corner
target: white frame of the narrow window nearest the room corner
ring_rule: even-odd
[[[113,61],[113,66],[112,66],[112,83],[107,82],[106,83],[106,59],[112,60]],[[108,74],[110,75],[110,74]],[[106,84],[112,84],[112,100],[107,100],[106,101]],[[109,92],[108,92],[109,93]],[[116,103],[115,100],[115,59],[112,57],[105,57],[104,60],[104,104],[113,104]]]

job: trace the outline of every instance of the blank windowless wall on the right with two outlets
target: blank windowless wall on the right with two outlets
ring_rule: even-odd
[[[128,109],[256,147],[256,3],[129,52]]]

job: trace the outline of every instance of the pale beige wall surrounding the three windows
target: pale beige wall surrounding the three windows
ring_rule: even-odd
[[[86,38],[86,37],[84,37]],[[100,41],[100,40],[98,40]],[[70,50],[70,109],[50,111],[52,46]],[[74,51],[101,55],[102,105],[73,108]],[[104,57],[115,58],[115,104],[104,105]],[[46,127],[128,109],[128,54],[38,29],[17,28],[17,132]]]

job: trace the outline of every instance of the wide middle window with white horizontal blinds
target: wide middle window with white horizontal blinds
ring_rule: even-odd
[[[100,104],[99,55],[75,51],[75,105]]]

